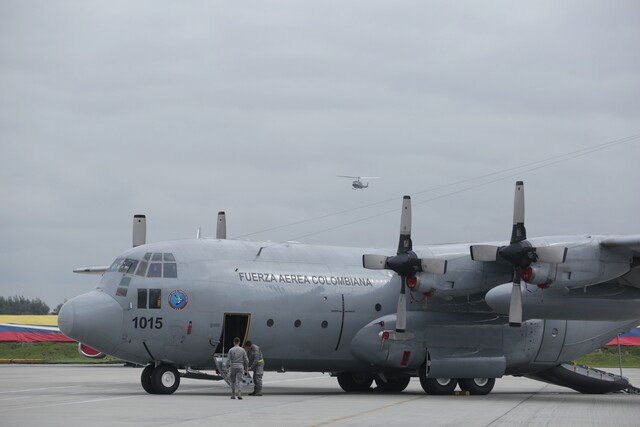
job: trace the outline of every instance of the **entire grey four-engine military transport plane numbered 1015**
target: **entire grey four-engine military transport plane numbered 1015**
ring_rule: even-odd
[[[640,235],[527,238],[522,182],[507,242],[413,246],[404,197],[397,250],[215,239],[145,244],[64,304],[68,337],[146,365],[149,393],[180,377],[221,379],[235,336],[261,345],[266,369],[330,372],[346,392],[487,394],[504,375],[605,393],[620,376],[572,365],[640,323]],[[393,254],[395,252],[395,254]],[[180,371],[179,371],[180,370]]]

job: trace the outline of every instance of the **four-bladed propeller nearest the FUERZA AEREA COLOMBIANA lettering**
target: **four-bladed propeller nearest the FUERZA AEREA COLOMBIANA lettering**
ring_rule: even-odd
[[[364,254],[362,266],[370,270],[392,270],[400,276],[400,296],[396,317],[394,336],[399,338],[406,332],[407,327],[407,286],[413,288],[417,284],[416,274],[420,272],[444,274],[447,261],[442,259],[420,259],[413,252],[411,242],[411,197],[404,196],[402,200],[402,214],[400,217],[400,241],[395,256]]]

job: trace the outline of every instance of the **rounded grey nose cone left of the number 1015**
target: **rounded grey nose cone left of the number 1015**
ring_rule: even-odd
[[[122,335],[123,310],[109,295],[92,291],[67,301],[58,314],[60,331],[103,353],[111,353]]]

